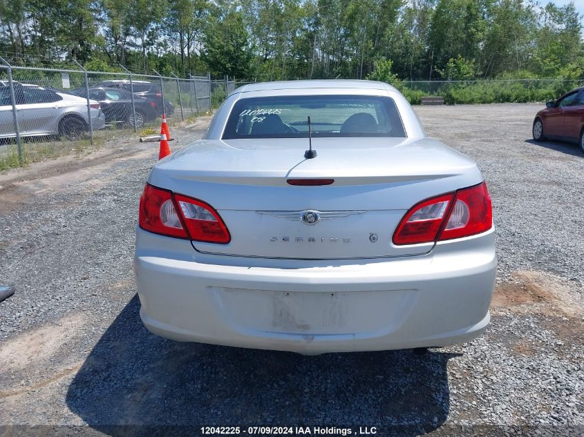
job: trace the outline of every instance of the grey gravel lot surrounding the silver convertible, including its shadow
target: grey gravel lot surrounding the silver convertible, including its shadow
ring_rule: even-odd
[[[194,435],[202,425],[583,434],[584,155],[530,141],[538,108],[416,108],[428,134],[478,162],[498,229],[487,334],[426,356],[305,357],[148,333],[132,257],[156,145],[0,175],[0,284],[17,285],[0,303],[0,435]],[[171,147],[207,122],[175,130]]]

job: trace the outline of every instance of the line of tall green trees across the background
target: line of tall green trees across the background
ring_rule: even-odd
[[[241,80],[578,79],[574,3],[529,0],[0,0],[15,64]]]

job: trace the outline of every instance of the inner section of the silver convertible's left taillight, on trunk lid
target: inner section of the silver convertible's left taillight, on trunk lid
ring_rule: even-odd
[[[180,194],[176,194],[174,198],[191,240],[220,244],[231,241],[227,226],[213,206]]]

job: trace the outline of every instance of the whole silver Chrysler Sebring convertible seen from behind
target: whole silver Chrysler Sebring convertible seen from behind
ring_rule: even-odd
[[[374,81],[238,88],[140,199],[146,327],[305,354],[440,347],[489,324],[491,198]]]

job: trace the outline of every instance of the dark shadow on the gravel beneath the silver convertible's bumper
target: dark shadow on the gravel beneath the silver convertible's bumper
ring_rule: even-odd
[[[359,426],[377,426],[416,435],[448,416],[446,364],[455,354],[309,357],[172,342],[149,333],[139,309],[135,296],[68,389],[68,407],[106,434],[153,435],[173,427],[182,432],[172,434],[199,434],[202,425],[347,425],[355,433]]]

